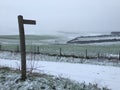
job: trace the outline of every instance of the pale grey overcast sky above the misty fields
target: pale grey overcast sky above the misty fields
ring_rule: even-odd
[[[1,0],[0,34],[18,34],[17,16],[36,20],[26,34],[120,31],[120,0]]]

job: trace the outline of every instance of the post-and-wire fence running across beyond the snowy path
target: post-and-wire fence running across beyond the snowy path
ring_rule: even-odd
[[[0,44],[0,51],[20,52],[20,46],[10,44]],[[117,59],[120,60],[120,52],[113,55],[111,53],[99,52],[95,49],[91,51],[88,49],[76,50],[74,47],[60,47],[60,46],[44,46],[44,45],[27,45],[26,53],[43,54],[48,56],[59,57],[73,57],[73,58],[85,58],[85,59]]]

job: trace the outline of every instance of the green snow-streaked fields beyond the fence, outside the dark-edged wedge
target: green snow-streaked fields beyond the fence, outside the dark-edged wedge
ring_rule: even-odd
[[[65,34],[66,35],[66,34]],[[50,53],[50,54],[60,54],[63,55],[76,55],[80,57],[106,57],[116,55],[118,58],[120,51],[120,42],[104,42],[104,43],[94,43],[94,44],[66,44],[67,41],[71,40],[70,36],[26,36],[26,51],[27,52],[40,52],[40,53]],[[76,36],[76,35],[75,35]],[[116,38],[120,37],[98,37],[98,38]],[[92,39],[98,39],[97,37],[92,37]],[[90,39],[89,37],[83,39]],[[8,51],[19,51],[19,37],[18,36],[0,36],[0,50]]]

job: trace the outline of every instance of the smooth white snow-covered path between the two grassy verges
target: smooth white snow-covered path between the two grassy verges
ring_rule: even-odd
[[[35,71],[44,71],[51,75],[62,75],[79,82],[97,83],[100,87],[106,86],[112,90],[120,88],[120,68],[112,66],[99,66],[89,64],[72,64],[48,61],[27,61],[27,68],[34,65]],[[0,59],[0,66],[19,68],[20,61]]]

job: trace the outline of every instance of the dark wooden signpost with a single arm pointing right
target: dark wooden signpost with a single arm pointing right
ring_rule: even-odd
[[[35,25],[35,20],[25,20],[22,15],[18,16],[19,34],[20,34],[20,50],[21,50],[21,79],[26,79],[26,47],[25,47],[25,33],[24,24]]]

